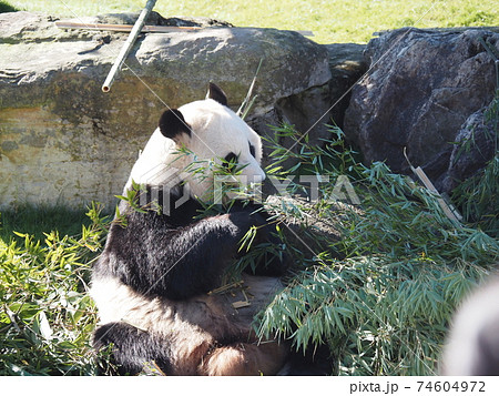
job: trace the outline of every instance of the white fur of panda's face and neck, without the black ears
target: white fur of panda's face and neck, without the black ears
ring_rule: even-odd
[[[230,152],[238,155],[240,166],[245,166],[241,173],[243,184],[258,183],[265,179],[259,166],[261,139],[231,109],[206,99],[184,104],[179,111],[191,128],[191,138],[182,136],[180,144],[193,154],[179,154],[179,145],[156,129],[134,164],[125,191],[131,187],[132,180],[151,185],[173,185],[186,180],[191,195],[203,200],[207,191],[213,192],[213,177],[204,174],[202,179],[194,180],[192,173],[183,173],[184,169],[192,163],[195,163],[194,167],[206,167],[210,161],[220,164],[220,158],[225,158]],[[255,148],[256,158],[249,153],[248,143]]]

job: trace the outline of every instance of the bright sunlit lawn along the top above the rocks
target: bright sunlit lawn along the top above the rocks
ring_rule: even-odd
[[[145,0],[11,0],[13,7],[75,18],[108,12],[138,11]],[[449,28],[498,26],[492,0],[226,0],[159,1],[163,17],[208,17],[238,27],[312,30],[319,43],[367,42],[376,31],[414,26]]]

